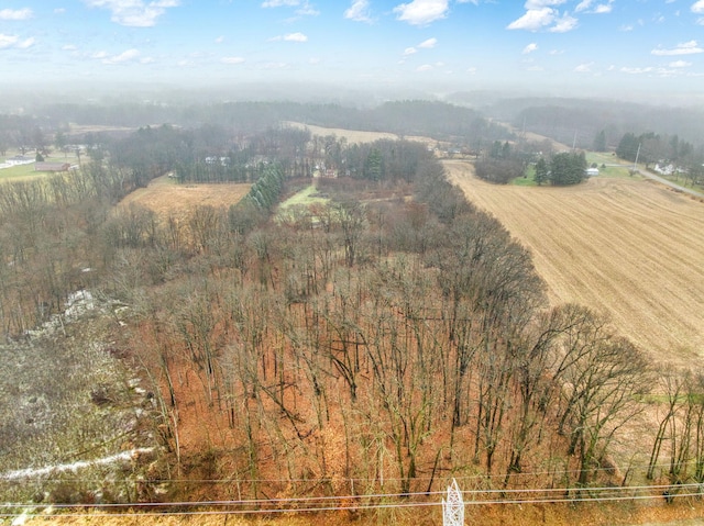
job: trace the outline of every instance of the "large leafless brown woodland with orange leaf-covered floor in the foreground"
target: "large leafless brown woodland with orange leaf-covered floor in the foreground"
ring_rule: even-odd
[[[191,481],[169,497],[704,482],[702,379],[656,376],[602,315],[549,306],[530,254],[427,147],[213,130],[145,126],[0,186],[4,337],[78,289],[128,305],[116,345],[151,382],[168,466],[150,482]],[[326,203],[276,214],[316,167],[337,171],[316,179]],[[252,187],[185,220],[114,208],[169,171]]]

